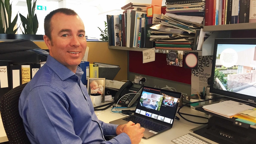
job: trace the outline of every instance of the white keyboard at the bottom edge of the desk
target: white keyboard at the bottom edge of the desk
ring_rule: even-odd
[[[174,140],[172,140],[175,144],[211,144],[207,142],[206,140],[203,140],[191,133],[185,134],[181,137],[178,137]]]

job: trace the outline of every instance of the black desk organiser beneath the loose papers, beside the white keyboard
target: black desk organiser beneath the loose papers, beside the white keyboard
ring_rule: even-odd
[[[191,131],[209,140],[220,144],[255,144],[256,129],[249,124],[236,121],[236,118],[226,118],[196,107],[204,113],[213,115],[208,124],[192,129]]]

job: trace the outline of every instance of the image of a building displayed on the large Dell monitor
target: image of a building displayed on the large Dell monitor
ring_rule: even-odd
[[[256,96],[256,45],[218,44],[214,88]]]

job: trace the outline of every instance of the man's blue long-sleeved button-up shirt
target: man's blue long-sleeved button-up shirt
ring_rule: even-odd
[[[25,86],[19,113],[31,143],[131,143],[125,133],[105,141],[104,135],[116,135],[117,125],[98,120],[82,74],[80,67],[74,73],[49,55]]]

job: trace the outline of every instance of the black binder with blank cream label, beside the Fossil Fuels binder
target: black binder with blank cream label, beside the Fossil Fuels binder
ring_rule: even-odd
[[[21,85],[21,65],[10,65],[10,88]]]

